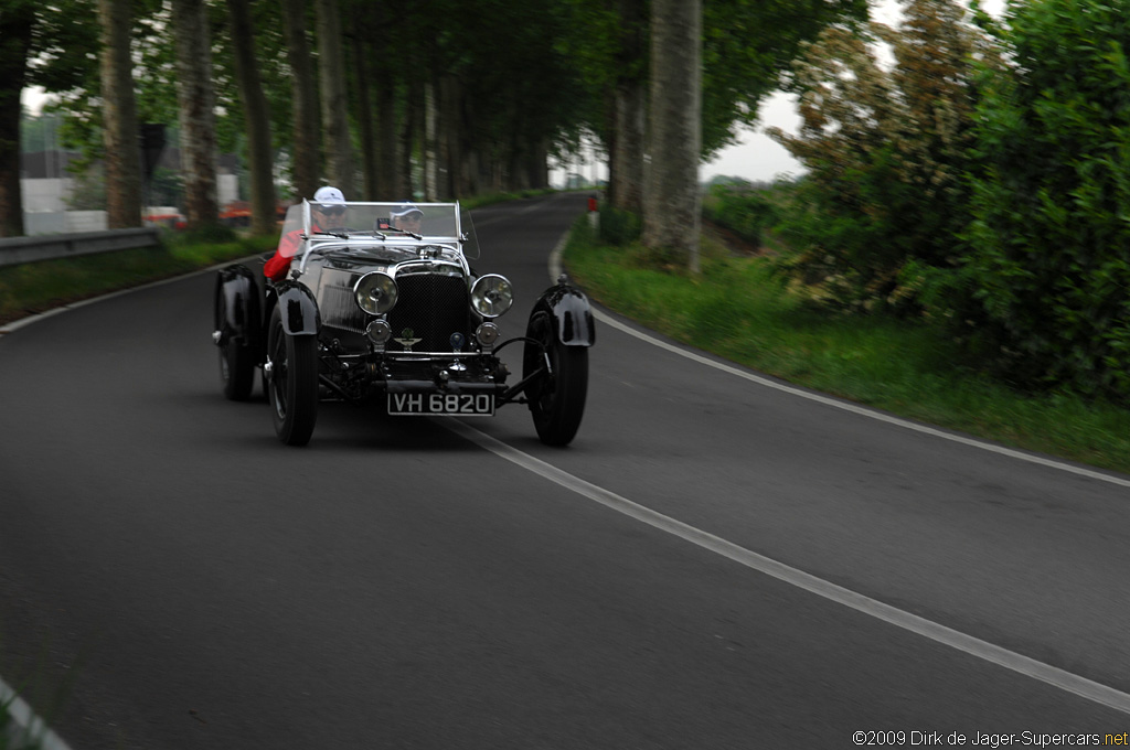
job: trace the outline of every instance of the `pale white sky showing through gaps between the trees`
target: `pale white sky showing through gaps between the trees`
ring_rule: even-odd
[[[983,0],[982,7],[999,15],[1005,0]],[[872,1],[875,20],[896,26],[899,11],[897,0]],[[38,110],[42,91],[25,89],[25,105]],[[764,133],[766,127],[781,128],[785,132],[796,133],[800,128],[800,115],[797,114],[797,101],[792,95],[777,93],[762,105],[760,121],[756,128],[745,128],[738,136],[738,143],[722,149],[718,156],[703,164],[699,177],[705,182],[718,175],[745,177],[749,181],[772,182],[779,175],[803,174],[803,166],[775,141]],[[574,165],[574,171],[585,176],[603,177],[607,171],[603,165]]]

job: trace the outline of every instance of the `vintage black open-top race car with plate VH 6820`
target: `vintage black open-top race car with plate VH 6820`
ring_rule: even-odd
[[[224,394],[249,399],[261,370],[287,445],[310,441],[323,400],[459,417],[527,403],[544,443],[570,443],[596,334],[584,294],[563,276],[534,303],[525,335],[499,341],[494,321],[513,290],[502,276],[471,270],[478,246],[459,203],[344,206],[333,227],[320,227],[306,201],[289,209],[285,280],[264,281],[243,264],[219,271],[212,340]],[[421,221],[406,225],[408,213]],[[498,352],[518,341],[522,375],[507,385]]]

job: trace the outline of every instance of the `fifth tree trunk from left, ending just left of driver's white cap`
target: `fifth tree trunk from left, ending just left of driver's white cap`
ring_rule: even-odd
[[[306,40],[306,0],[282,0],[282,20],[294,97],[294,190],[298,198],[313,198],[321,182],[321,133],[313,55]]]

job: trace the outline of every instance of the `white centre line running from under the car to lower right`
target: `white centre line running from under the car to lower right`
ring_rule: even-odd
[[[536,459],[494,437],[490,437],[485,433],[480,433],[473,427],[469,427],[452,417],[441,417],[437,418],[437,421],[457,435],[471,441],[476,445],[490,451],[495,455],[527,469],[528,471],[532,471],[533,473],[544,477],[551,482],[560,485],[577,495],[611,508],[617,513],[623,513],[628,517],[635,518],[636,521],[678,537],[679,539],[686,540],[693,544],[697,544],[703,549],[721,555],[722,557],[729,558],[734,562],[773,576],[774,578],[797,586],[798,588],[803,588],[805,591],[823,596],[829,601],[843,604],[844,607],[850,607],[853,610],[869,614],[873,618],[883,620],[884,622],[888,622],[939,644],[956,648],[960,652],[970,654],[971,656],[976,656],[977,659],[982,659],[986,662],[998,664],[1005,669],[1024,674],[1025,677],[1031,677],[1040,680],[1041,682],[1046,682],[1048,684],[1061,690],[1066,690],[1081,698],[1093,700],[1097,704],[1102,704],[1130,715],[1130,695],[1125,692],[1115,690],[1114,688],[1110,688],[1099,682],[1095,682],[1094,680],[1079,677],[1078,674],[1072,674],[1071,672],[1045,664],[1044,662],[1038,662],[1034,659],[1024,656],[1023,654],[1017,654],[1016,652],[1007,648],[996,646],[985,640],[981,640],[980,638],[974,638],[973,636],[959,633],[953,628],[947,628],[944,625],[938,625],[937,622],[927,620],[916,614],[896,609],[889,604],[884,604],[875,599],[863,596],[862,594],[858,594],[823,578],[817,578],[816,576],[802,570],[791,568],[788,565],[777,562],[776,560],[767,558],[764,555],[758,555],[757,552],[753,552],[744,547],[728,542],[724,539],[699,529],[695,529],[694,526],[685,524],[681,521],[676,521],[675,518],[666,516],[662,513],[657,513],[655,511],[646,508],[637,503],[633,503],[620,495],[598,487],[579,477],[574,477],[573,474],[562,471],[560,469],[546,463],[540,459]]]

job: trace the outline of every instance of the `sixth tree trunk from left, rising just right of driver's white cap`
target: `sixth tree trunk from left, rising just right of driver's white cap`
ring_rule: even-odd
[[[338,0],[316,0],[319,78],[322,84],[322,129],[325,131],[330,182],[346,200],[356,200],[349,99],[346,96],[345,38]]]

